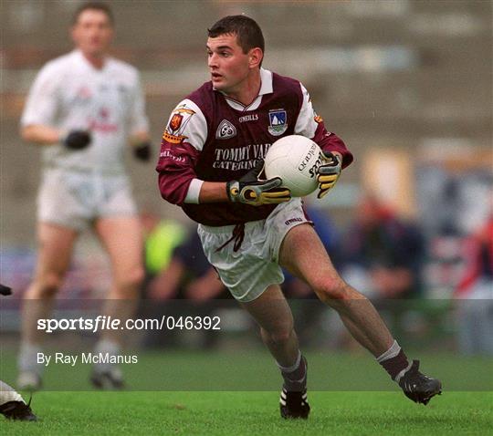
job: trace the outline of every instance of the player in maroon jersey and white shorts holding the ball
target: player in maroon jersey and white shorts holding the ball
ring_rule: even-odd
[[[301,356],[291,310],[279,284],[280,266],[309,284],[404,390],[426,404],[441,384],[409,362],[372,303],[344,283],[330,262],[299,198],[280,178],[262,180],[272,142],[298,134],[324,153],[313,168],[319,198],[335,185],[351,152],[325,129],[298,80],[261,67],[264,37],[247,16],[226,16],[209,29],[211,80],[173,110],[158,162],[163,198],[199,223],[209,262],[231,294],[256,319],[284,384],[283,418],[309,416],[307,362]]]

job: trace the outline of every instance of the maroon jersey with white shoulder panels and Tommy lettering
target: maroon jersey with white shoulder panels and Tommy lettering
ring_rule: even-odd
[[[303,135],[323,151],[339,151],[343,168],[352,161],[342,140],[325,129],[298,80],[265,69],[260,74],[262,86],[249,106],[207,82],[180,102],[164,130],[156,168],[159,189],[165,200],[180,205],[197,223],[220,226],[267,218],[275,204],[199,204],[199,181],[238,180],[283,136]]]

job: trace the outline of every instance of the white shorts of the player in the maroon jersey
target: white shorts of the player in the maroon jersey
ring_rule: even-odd
[[[278,205],[267,219],[245,223],[245,237],[238,251],[235,241],[217,250],[233,234],[234,225],[198,226],[198,234],[209,262],[236,300],[255,300],[269,285],[281,284],[284,275],[278,265],[279,249],[288,231],[311,223],[295,198]]]

